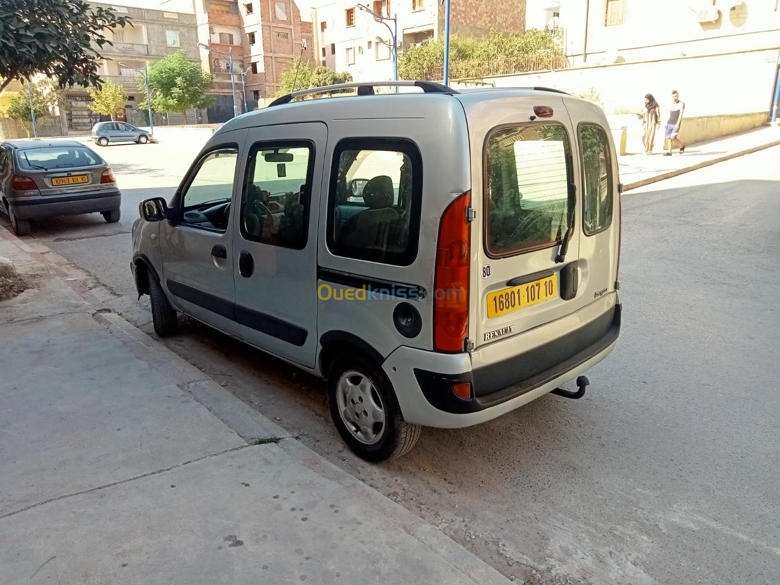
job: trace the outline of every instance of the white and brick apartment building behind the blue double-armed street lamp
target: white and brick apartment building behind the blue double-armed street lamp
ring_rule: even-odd
[[[372,12],[397,19],[399,51],[434,41],[444,31],[445,7],[438,0],[363,0]],[[452,2],[450,31],[480,36],[490,30],[525,30],[525,0]],[[355,80],[392,79],[392,21],[375,20],[356,0],[325,0],[311,9],[314,61]]]

